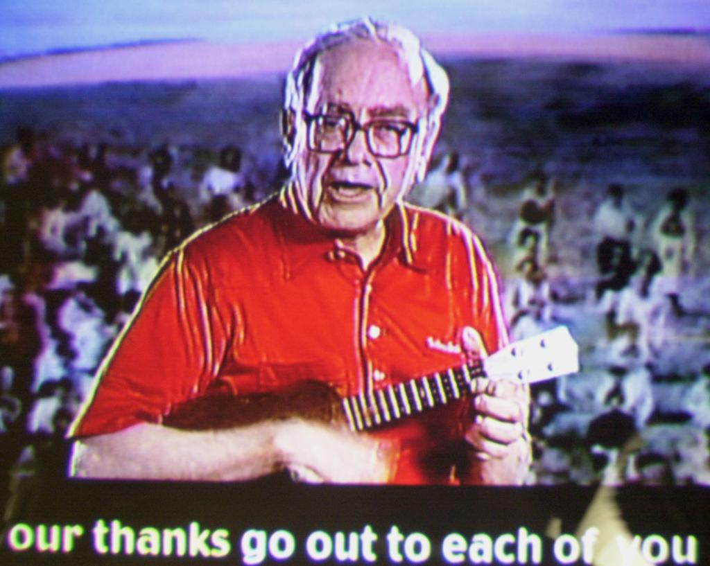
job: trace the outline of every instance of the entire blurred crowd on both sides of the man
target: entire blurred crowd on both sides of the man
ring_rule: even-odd
[[[244,157],[235,145],[77,146],[30,128],[3,148],[0,452],[11,477],[65,476],[67,426],[160,260],[283,181],[275,170],[264,183]],[[466,220],[503,198],[494,180],[447,152],[410,200]],[[534,170],[505,197],[517,199],[508,257],[498,261],[513,338],[565,324],[585,364],[579,376],[533,390],[532,480],[710,483],[710,360],[669,369],[673,340],[707,318],[684,301],[696,276],[690,193],[669,190],[644,218],[611,184],[591,216],[570,220],[559,199],[573,194]],[[594,265],[593,281],[560,260],[563,246],[579,244],[560,235],[570,222],[594,238],[595,253],[582,258]]]

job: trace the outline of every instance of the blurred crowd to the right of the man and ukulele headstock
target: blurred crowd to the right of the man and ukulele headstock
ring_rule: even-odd
[[[412,197],[465,220],[498,212],[489,184],[452,152]],[[621,183],[590,194],[538,169],[501,198],[516,201],[507,261],[496,258],[511,338],[565,325],[581,347],[579,374],[532,388],[531,482],[710,484],[710,288],[697,277],[691,192],[643,197],[642,210]],[[561,260],[570,248],[579,265]]]

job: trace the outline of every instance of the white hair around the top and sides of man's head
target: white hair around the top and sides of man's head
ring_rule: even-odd
[[[355,39],[382,41],[391,45],[407,65],[412,84],[421,79],[427,86],[427,135],[432,145],[441,126],[441,117],[449,101],[449,77],[434,57],[422,47],[414,33],[393,23],[385,23],[372,18],[339,23],[324,33],[317,35],[310,43],[296,53],[293,67],[286,76],[283,108],[286,112],[300,114],[305,109],[310,93],[315,62],[322,52],[348,43]],[[293,152],[288,140],[286,162],[292,162]]]

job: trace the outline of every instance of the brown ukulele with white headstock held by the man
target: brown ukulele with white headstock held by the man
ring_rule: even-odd
[[[341,398],[328,384],[307,381],[272,393],[208,395],[175,406],[163,424],[206,430],[299,416],[344,423],[354,432],[368,431],[461,399],[471,393],[478,377],[531,384],[578,370],[577,343],[567,328],[559,326],[514,342],[484,359],[368,393]]]

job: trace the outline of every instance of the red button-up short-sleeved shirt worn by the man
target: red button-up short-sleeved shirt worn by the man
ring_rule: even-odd
[[[315,379],[341,396],[371,392],[461,365],[467,326],[488,353],[506,344],[496,274],[466,226],[398,205],[387,233],[364,270],[284,189],[192,238],[109,354],[72,435],[160,423],[215,389],[246,395]],[[371,433],[400,443],[394,482],[465,477],[466,406]]]

